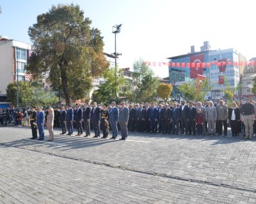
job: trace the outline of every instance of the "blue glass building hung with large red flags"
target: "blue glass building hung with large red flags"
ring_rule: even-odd
[[[194,46],[192,46],[191,52],[186,55],[169,57],[171,62],[169,79],[173,85],[173,97],[176,97],[176,95],[183,97],[183,93],[178,90],[178,86],[183,83],[193,82],[198,73],[209,78],[209,82],[213,87],[211,92],[206,95],[205,99],[207,100],[224,97],[223,89],[227,88],[226,80],[230,88],[238,86],[240,80],[238,53],[234,49],[211,50],[210,48],[207,41],[200,47],[200,52],[195,52]],[[226,63],[225,66],[223,66],[223,61]],[[231,61],[232,64],[228,63],[228,61]],[[237,66],[234,66],[233,61],[237,61]],[[187,63],[190,63],[190,68],[188,68]],[[200,63],[200,67],[192,68],[192,63],[194,63],[194,66],[196,63]],[[204,66],[202,66],[202,63],[205,63]],[[221,66],[218,63],[221,63]],[[181,66],[182,64],[183,67]],[[238,95],[238,93],[234,93],[234,95]]]

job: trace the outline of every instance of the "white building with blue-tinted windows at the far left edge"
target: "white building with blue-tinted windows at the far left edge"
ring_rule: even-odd
[[[6,88],[10,82],[26,80],[25,67],[31,52],[31,44],[10,40],[6,36],[0,36],[1,95],[6,95]]]

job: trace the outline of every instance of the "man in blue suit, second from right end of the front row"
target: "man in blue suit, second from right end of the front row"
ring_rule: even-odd
[[[114,101],[111,102],[111,107],[109,110],[109,121],[112,130],[112,138],[110,139],[116,139],[118,133],[117,123],[119,122],[119,109],[116,107],[116,102]]]

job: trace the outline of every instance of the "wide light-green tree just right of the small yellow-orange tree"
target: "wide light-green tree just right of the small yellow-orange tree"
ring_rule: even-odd
[[[200,83],[200,86],[198,87],[198,83]],[[182,91],[185,95],[186,99],[194,100],[194,101],[204,101],[205,95],[211,91],[211,86],[209,84],[209,79],[206,78],[202,80],[202,82],[199,81],[197,78],[192,83],[184,83],[179,85],[179,91]]]

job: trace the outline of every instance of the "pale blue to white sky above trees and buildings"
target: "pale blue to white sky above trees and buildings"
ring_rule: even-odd
[[[211,49],[234,48],[247,60],[256,57],[252,1],[239,0],[0,0],[0,35],[30,43],[28,28],[37,16],[58,3],[79,5],[104,36],[104,52],[114,53],[116,34],[119,68],[131,68],[139,59],[166,62],[184,55],[190,46],[200,51],[204,41]],[[1,53],[0,53],[1,54]],[[158,63],[156,63],[158,64]],[[152,66],[156,76],[169,76],[167,66]]]

